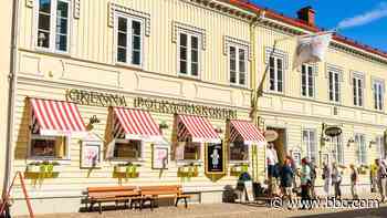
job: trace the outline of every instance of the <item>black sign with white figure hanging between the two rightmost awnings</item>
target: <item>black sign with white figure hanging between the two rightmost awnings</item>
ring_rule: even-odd
[[[223,144],[208,144],[206,146],[206,173],[224,174],[224,149]]]

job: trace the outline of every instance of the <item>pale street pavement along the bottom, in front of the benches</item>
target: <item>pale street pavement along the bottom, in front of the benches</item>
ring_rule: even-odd
[[[268,208],[258,205],[217,204],[217,205],[191,205],[188,209],[184,207],[160,207],[154,211],[140,210],[111,210],[100,215],[95,212],[55,214],[41,215],[36,218],[286,218],[286,217],[351,217],[351,218],[383,218],[387,217],[387,207],[384,205],[378,209],[344,210],[344,209],[313,209],[313,210],[287,210]],[[19,217],[27,218],[27,217]]]

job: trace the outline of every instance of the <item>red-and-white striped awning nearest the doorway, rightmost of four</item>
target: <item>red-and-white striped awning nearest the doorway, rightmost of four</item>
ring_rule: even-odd
[[[263,133],[249,121],[230,121],[230,142],[243,142],[247,145],[264,145]]]

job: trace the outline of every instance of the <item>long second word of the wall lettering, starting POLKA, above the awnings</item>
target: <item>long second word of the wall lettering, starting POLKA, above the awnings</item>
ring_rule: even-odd
[[[151,112],[167,113],[167,114],[191,114],[199,116],[207,116],[217,120],[237,118],[237,111],[230,108],[212,107],[205,105],[196,105],[188,103],[177,103],[154,98],[135,98],[134,106]]]

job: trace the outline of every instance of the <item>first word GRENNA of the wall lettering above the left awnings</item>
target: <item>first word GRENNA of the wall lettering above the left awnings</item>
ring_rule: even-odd
[[[86,90],[66,90],[66,101],[91,106],[127,106],[124,95]]]

